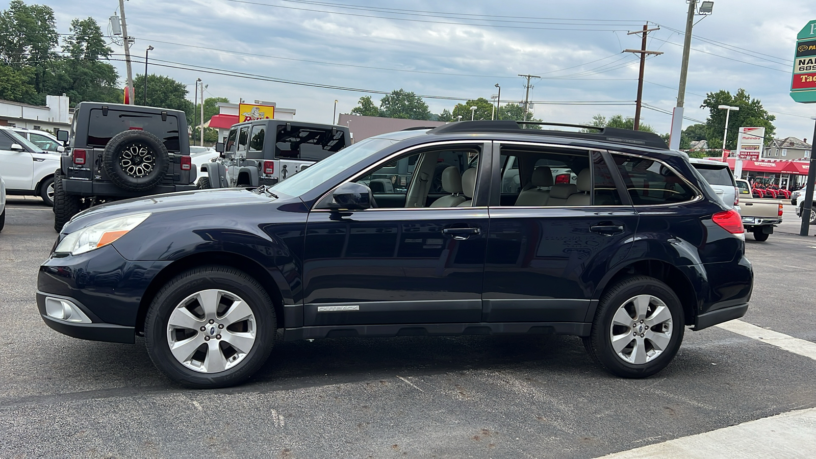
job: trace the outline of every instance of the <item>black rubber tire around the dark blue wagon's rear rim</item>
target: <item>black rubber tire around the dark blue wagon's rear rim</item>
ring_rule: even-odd
[[[632,305],[629,303],[630,299],[634,299],[641,295],[655,297],[659,299],[659,301],[663,302],[663,305],[666,306],[668,312],[671,313],[671,325],[669,326],[667,323],[664,323],[661,324],[660,327],[663,328],[663,326],[665,326],[664,330],[671,330],[671,334],[668,337],[667,345],[664,345],[663,350],[659,354],[654,355],[651,360],[648,360],[645,363],[631,363],[619,356],[619,354],[613,348],[613,332],[619,332],[614,336],[623,337],[624,335],[622,330],[617,330],[619,326],[612,328],[612,323],[614,314],[617,313],[622,306]],[[654,303],[650,302],[647,310],[648,312],[644,316],[646,318],[646,322],[648,322],[648,318],[654,317],[654,315],[651,314],[654,314],[655,311],[659,309],[659,306],[655,306]],[[640,328],[641,326],[644,326],[644,323],[641,322],[641,319],[643,318],[637,317],[633,319],[632,315],[634,314],[630,314],[629,319],[632,320],[633,323],[636,323],[638,327],[631,328],[630,331],[642,333],[641,341],[637,342],[645,343],[642,350],[646,351],[645,355],[648,359],[650,345],[652,346],[652,352],[654,352],[656,349],[654,348],[654,341],[649,341],[649,336],[646,336],[645,339],[642,337],[644,335],[648,335],[650,330],[648,327],[645,330]],[[668,363],[672,361],[677,353],[677,350],[680,348],[681,342],[683,341],[684,327],[685,314],[683,313],[683,307],[672,289],[665,283],[659,281],[659,279],[654,279],[648,276],[634,276],[616,283],[614,286],[607,289],[604,295],[601,296],[601,303],[598,305],[595,319],[592,321],[592,333],[590,336],[583,338],[583,345],[587,348],[587,351],[592,356],[592,359],[594,359],[597,363],[600,363],[607,372],[610,372],[615,376],[626,378],[650,377],[663,368],[666,368]],[[652,336],[657,335],[654,332],[651,333]],[[665,333],[663,333],[663,336],[665,336]],[[636,340],[636,336],[632,338],[632,341]],[[624,354],[627,349],[628,347],[623,348]],[[634,351],[632,351],[631,356],[632,358],[635,357]]]

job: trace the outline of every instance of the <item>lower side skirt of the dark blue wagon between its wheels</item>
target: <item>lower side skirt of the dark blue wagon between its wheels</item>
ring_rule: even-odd
[[[396,323],[286,328],[284,341],[339,337],[459,336],[459,335],[574,335],[589,336],[592,323]]]

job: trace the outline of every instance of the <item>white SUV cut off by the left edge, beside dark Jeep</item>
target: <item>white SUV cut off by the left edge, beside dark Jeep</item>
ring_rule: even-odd
[[[0,127],[0,171],[7,194],[39,196],[54,205],[54,172],[60,155],[48,153],[15,131]]]

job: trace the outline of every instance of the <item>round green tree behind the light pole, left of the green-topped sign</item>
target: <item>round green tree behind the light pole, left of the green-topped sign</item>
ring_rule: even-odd
[[[721,139],[725,131],[725,112],[728,110],[718,109],[717,106],[719,105],[739,107],[738,111],[731,111],[725,149],[737,148],[740,127],[765,127],[765,145],[769,145],[770,140],[774,138],[774,134],[776,134],[774,120],[776,117],[765,110],[760,100],[752,99],[751,95],[743,88],[739,88],[734,96],[725,90],[707,93],[703,105],[700,105],[700,108],[709,110],[706,119],[707,139]]]

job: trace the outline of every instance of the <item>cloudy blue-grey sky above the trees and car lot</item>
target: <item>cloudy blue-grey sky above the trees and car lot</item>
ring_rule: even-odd
[[[54,9],[61,33],[74,17],[92,16],[106,29],[118,9],[117,0],[38,3]],[[425,99],[434,113],[457,102],[444,98],[490,98],[495,83],[503,101],[522,100],[517,74],[542,77],[530,99],[545,121],[633,116],[638,63],[621,51],[640,47],[627,32],[649,21],[660,30],[647,48],[665,54],[646,61],[644,101],[654,109],[644,109],[643,122],[660,132],[669,131],[664,112],[676,104],[687,11],[685,0],[128,0],[125,7],[140,56],[135,73],[144,72],[152,45],[150,73],[202,78],[206,96],[275,101],[298,119],[324,123],[335,99],[348,113],[361,96],[379,100],[376,91],[398,88],[441,97]],[[777,116],[778,136],[810,139],[816,105],[788,96],[793,44],[808,20],[816,20],[816,2],[716,0],[711,16],[695,18],[685,115],[705,120],[699,105],[707,92],[743,87]],[[114,65],[123,79],[125,65]]]

